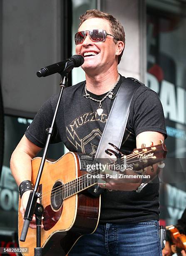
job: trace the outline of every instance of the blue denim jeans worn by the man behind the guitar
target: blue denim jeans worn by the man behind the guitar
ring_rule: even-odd
[[[99,224],[91,235],[79,238],[69,256],[162,256],[159,223]]]

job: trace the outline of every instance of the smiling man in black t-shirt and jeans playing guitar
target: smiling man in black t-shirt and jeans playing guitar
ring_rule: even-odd
[[[52,142],[62,141],[69,151],[95,155],[114,95],[125,79],[117,69],[125,46],[124,28],[112,15],[88,10],[80,17],[74,41],[76,54],[84,57],[86,81],[64,90]],[[51,125],[56,103],[57,95],[47,100],[12,154],[11,169],[18,186],[31,180],[31,159],[45,146],[45,129]],[[164,138],[165,120],[159,97],[142,84],[132,98],[120,149],[129,154],[134,148],[141,148],[142,143],[150,146],[153,141],[156,145]],[[159,184],[147,184],[138,193],[141,182],[140,178],[123,183],[109,179],[102,184],[99,225],[93,234],[79,238],[70,256],[162,255]],[[20,210],[24,216],[30,190],[21,193]],[[35,228],[35,219],[30,227]]]

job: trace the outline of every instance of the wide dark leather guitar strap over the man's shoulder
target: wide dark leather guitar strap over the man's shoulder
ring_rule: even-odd
[[[144,84],[133,77],[124,78],[110,110],[107,123],[99,141],[94,162],[99,162],[97,159],[108,159],[108,155],[105,150],[108,148],[111,149],[111,146],[108,144],[109,142],[118,148],[121,147],[126,124],[129,118],[131,100],[134,93],[141,85]],[[104,192],[105,189],[102,189],[99,185],[94,185],[90,187],[88,191],[97,197]]]

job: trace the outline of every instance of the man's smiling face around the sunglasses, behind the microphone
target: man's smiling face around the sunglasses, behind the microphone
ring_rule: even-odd
[[[104,29],[112,35],[109,21],[102,18],[89,18],[79,27],[78,31],[89,31],[91,29]],[[104,42],[94,42],[87,33],[82,44],[76,46],[76,54],[84,57],[82,69],[85,72],[100,73],[109,69],[117,69],[118,44],[114,43],[112,36],[107,36]]]

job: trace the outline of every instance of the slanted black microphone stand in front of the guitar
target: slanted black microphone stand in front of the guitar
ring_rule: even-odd
[[[48,148],[50,145],[50,141],[53,135],[53,126],[55,123],[55,118],[57,115],[57,110],[59,108],[60,105],[60,101],[62,98],[62,93],[64,88],[67,87],[67,82],[68,82],[68,73],[70,70],[66,70],[66,73],[59,73],[61,75],[61,82],[60,82],[60,94],[57,100],[57,105],[56,105],[56,109],[55,109],[55,114],[54,117],[52,119],[52,125],[50,128],[47,128],[47,140],[45,143],[45,147],[44,147],[44,151],[43,151],[43,155],[42,155],[42,160],[41,160],[41,164],[40,164],[40,168],[37,174],[37,179],[35,182],[35,187],[34,190],[32,192],[30,192],[30,196],[27,202],[27,207],[25,210],[25,215],[24,215],[24,224],[22,227],[22,232],[21,232],[21,236],[20,236],[20,241],[24,242],[27,236],[27,231],[30,225],[30,221],[32,220],[33,214],[35,214],[36,216],[36,225],[37,225],[37,238],[36,238],[36,248],[34,248],[34,255],[35,256],[42,256],[42,248],[41,248],[41,223],[42,223],[42,215],[44,212],[44,207],[40,204],[37,203],[37,199],[41,196],[40,192],[37,192],[38,187],[39,187],[39,183],[40,183],[40,179],[41,179],[41,175],[42,175],[42,171],[43,171],[43,167],[45,164],[45,159],[47,157],[47,152],[48,152]]]

